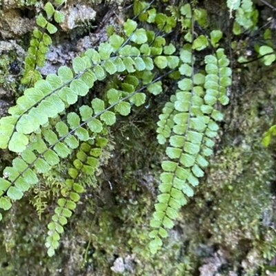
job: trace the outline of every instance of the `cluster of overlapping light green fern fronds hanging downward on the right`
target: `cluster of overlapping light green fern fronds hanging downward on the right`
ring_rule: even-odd
[[[188,5],[188,4],[187,4]],[[185,8],[190,10],[189,8]],[[183,9],[182,9],[183,12]],[[224,50],[219,49],[215,55],[205,57],[206,75],[201,72],[195,74],[195,50],[202,50],[208,43],[214,48],[221,39],[222,33],[214,30],[210,39],[203,35],[193,37],[193,16],[185,12],[188,26],[191,28],[191,39],[180,52],[181,66],[179,72],[184,76],[178,81],[179,90],[166,103],[163,114],[159,116],[159,144],[170,144],[166,148],[168,160],[163,161],[159,190],[159,203],[155,204],[155,213],[150,225],[155,228],[150,232],[152,241],[150,250],[156,253],[162,245],[161,238],[167,237],[165,228],[172,228],[172,220],[177,219],[179,208],[187,203],[186,197],[193,197],[192,187],[199,184],[199,177],[204,176],[204,168],[208,166],[206,157],[213,153],[214,142],[211,138],[217,136],[219,126],[215,121],[221,121],[223,116],[214,106],[217,101],[228,103],[226,86],[231,83],[229,60]],[[190,77],[190,78],[187,78]]]

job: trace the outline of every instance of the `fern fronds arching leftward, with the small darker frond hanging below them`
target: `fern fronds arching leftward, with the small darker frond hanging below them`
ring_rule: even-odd
[[[136,28],[135,21],[126,22],[125,32],[129,39],[135,43],[146,43],[146,30]],[[148,52],[154,49],[161,52],[162,50],[154,47],[158,46],[158,41],[164,39],[157,37],[152,41],[152,47],[148,48],[143,44],[141,51]],[[112,53],[113,57],[110,57]],[[167,62],[164,63],[164,59],[158,57],[155,57],[154,62],[160,68],[167,66]],[[126,116],[130,112],[130,103],[136,106],[143,104],[146,95],[141,93],[141,90],[148,86],[148,90],[153,94],[161,92],[161,83],[158,81],[160,78],[155,81],[146,78],[146,75],[150,75],[149,70],[153,69],[150,56],[141,55],[136,47],[124,46],[124,38],[117,34],[110,37],[109,43],[101,43],[98,52],[90,49],[83,57],[76,57],[72,61],[72,68],[73,71],[61,66],[57,75],[50,74],[46,79],[34,83],[34,88],[26,89],[24,95],[17,99],[17,105],[10,108],[10,116],[0,119],[1,148],[8,147],[9,150],[19,153],[19,157],[12,162],[12,167],[7,167],[3,172],[4,177],[0,179],[0,207],[3,210],[8,210],[12,206],[12,200],[21,199],[24,192],[37,184],[39,174],[45,174],[51,166],[57,166],[60,159],[72,155],[74,150],[79,148],[79,141],[90,141],[92,134],[103,134],[106,126],[115,124],[115,112]],[[59,115],[68,106],[76,103],[78,97],[86,96],[94,82],[105,79],[107,73],[134,73],[138,70],[144,70],[144,74],[137,73],[137,77],[128,75],[124,82],[120,83],[122,90],[115,85],[107,91],[106,97],[110,106],[106,106],[105,101],[95,98],[91,106],[79,108],[80,116],[75,112]],[[138,77],[143,79],[146,86],[137,89]],[[100,155],[97,148],[91,152],[91,155],[95,155],[96,152]],[[49,255],[53,255],[57,248],[59,234],[63,232],[63,225],[67,221],[66,217],[72,215],[74,202],[79,200],[76,192],[81,193],[83,190],[76,181],[79,173],[93,174],[99,166],[95,157],[87,157],[87,160],[84,160],[80,159],[79,155],[80,152],[74,161],[75,168],[68,170],[71,179],[66,181],[66,192],[61,190],[67,197],[58,200],[59,207],[55,210],[53,221],[48,225],[49,237],[46,246],[49,248]],[[81,161],[86,161],[87,164],[80,165]]]

